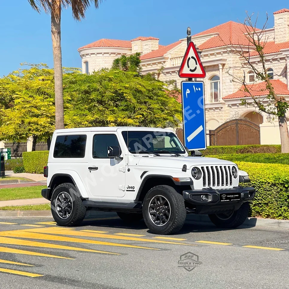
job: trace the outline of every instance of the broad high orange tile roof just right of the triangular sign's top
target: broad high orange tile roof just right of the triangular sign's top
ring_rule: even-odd
[[[257,29],[256,29],[257,30]],[[258,29],[259,30],[259,29]],[[248,45],[248,40],[244,33],[246,33],[245,27],[241,23],[229,21],[221,25],[215,26],[194,36],[201,36],[210,33],[219,33],[218,36],[213,36],[207,41],[198,46],[199,49],[209,49],[214,47],[225,46],[229,44],[235,45]]]

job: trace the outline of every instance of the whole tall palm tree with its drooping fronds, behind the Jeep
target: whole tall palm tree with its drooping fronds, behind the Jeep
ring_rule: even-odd
[[[41,9],[51,14],[51,36],[54,61],[54,90],[55,90],[55,129],[64,128],[63,87],[62,87],[62,57],[61,57],[61,10],[72,7],[72,16],[76,21],[85,17],[85,12],[93,2],[95,8],[102,0],[28,0],[34,10]]]

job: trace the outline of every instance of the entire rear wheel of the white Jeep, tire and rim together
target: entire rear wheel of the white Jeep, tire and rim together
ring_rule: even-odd
[[[86,207],[75,186],[71,183],[58,185],[51,197],[51,213],[60,226],[76,226],[86,214]]]

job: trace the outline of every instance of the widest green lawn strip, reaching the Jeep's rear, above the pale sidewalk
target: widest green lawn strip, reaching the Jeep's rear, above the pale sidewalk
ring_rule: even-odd
[[[0,189],[0,201],[41,198],[41,190],[46,186]]]

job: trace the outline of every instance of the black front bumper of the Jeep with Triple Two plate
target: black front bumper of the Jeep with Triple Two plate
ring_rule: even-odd
[[[241,186],[230,189],[203,188],[182,192],[186,203],[194,208],[196,214],[216,214],[238,210],[242,203],[253,200],[255,193],[255,188]]]

